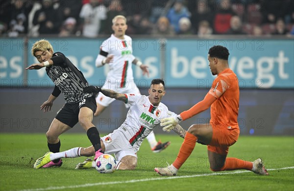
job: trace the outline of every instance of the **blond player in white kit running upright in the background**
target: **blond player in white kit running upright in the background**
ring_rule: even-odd
[[[127,29],[126,18],[122,15],[114,17],[112,29],[114,34],[101,44],[100,52],[96,59],[97,67],[109,64],[110,68],[102,88],[112,89],[119,93],[141,94],[134,82],[132,64],[139,66],[143,71],[143,75],[147,74],[149,76],[149,71],[148,66],[142,64],[132,54],[132,39],[125,35]],[[95,116],[98,116],[114,100],[99,93],[96,98],[97,110]],[[129,106],[126,105],[126,107]],[[147,140],[153,152],[160,152],[170,145],[170,142],[157,142],[153,131],[150,132]]]

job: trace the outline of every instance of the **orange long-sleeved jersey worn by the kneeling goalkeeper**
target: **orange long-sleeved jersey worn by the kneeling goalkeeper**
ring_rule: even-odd
[[[211,106],[210,124],[213,127],[238,127],[239,83],[236,74],[229,68],[223,70],[213,81],[204,100],[180,115],[186,120]]]

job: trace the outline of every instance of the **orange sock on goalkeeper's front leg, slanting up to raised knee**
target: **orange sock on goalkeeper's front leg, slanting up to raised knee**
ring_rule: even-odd
[[[181,149],[172,163],[176,169],[180,169],[184,162],[188,159],[193,149],[195,148],[197,137],[189,132],[186,133],[184,142],[182,143]]]

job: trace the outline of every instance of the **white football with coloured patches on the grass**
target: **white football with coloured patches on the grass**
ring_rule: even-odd
[[[102,154],[96,159],[96,170],[100,173],[112,173],[116,167],[117,161],[110,154]]]

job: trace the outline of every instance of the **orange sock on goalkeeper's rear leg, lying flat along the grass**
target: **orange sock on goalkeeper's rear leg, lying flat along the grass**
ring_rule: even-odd
[[[226,158],[225,165],[221,168],[222,170],[252,170],[253,163],[250,161],[244,161],[238,158]],[[218,170],[219,171],[219,170]]]

